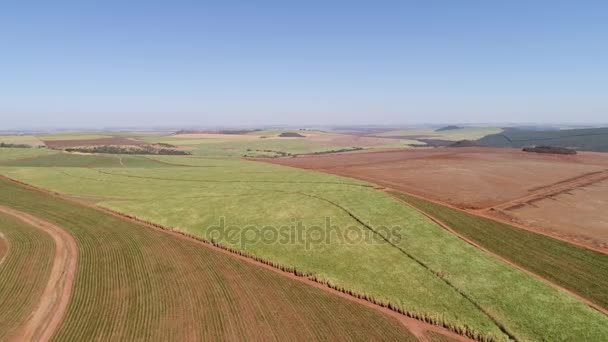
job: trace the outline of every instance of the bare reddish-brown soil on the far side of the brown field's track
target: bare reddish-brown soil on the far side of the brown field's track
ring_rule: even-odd
[[[608,169],[608,155],[530,154],[514,149],[418,148],[275,159],[276,164],[367,180],[396,190],[481,209],[530,190]]]

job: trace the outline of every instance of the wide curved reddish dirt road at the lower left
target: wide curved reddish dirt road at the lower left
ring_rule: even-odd
[[[78,248],[65,230],[30,214],[0,206],[0,212],[11,215],[49,234],[55,242],[55,257],[49,280],[40,301],[17,330],[15,341],[49,341],[66,312],[74,283]]]

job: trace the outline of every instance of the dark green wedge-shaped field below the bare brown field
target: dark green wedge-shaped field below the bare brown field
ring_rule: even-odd
[[[412,196],[395,196],[488,250],[608,308],[608,255]]]

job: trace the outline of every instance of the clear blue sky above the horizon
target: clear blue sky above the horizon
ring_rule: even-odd
[[[608,1],[7,1],[0,118],[607,122]]]

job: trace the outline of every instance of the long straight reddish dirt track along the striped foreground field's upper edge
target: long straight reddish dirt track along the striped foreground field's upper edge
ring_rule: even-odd
[[[294,273],[294,272],[291,272],[291,271],[284,270],[284,269],[282,269],[279,266],[276,266],[274,264],[270,264],[270,263],[264,262],[263,260],[254,259],[251,256],[239,254],[239,253],[237,253],[237,252],[235,252],[233,250],[227,249],[227,248],[222,247],[222,246],[218,246],[218,245],[213,244],[213,243],[211,243],[209,241],[205,241],[205,240],[202,240],[200,238],[188,235],[187,233],[181,233],[181,232],[178,232],[178,231],[174,231],[174,230],[172,230],[170,228],[154,225],[154,224],[151,224],[149,222],[146,222],[146,221],[143,221],[143,220],[139,220],[139,219],[131,217],[131,216],[127,216],[127,215],[124,215],[124,214],[121,214],[121,213],[118,213],[118,212],[115,212],[115,211],[112,211],[112,210],[109,210],[109,209],[105,209],[105,208],[98,207],[98,206],[95,206],[95,205],[92,205],[92,204],[89,204],[89,203],[86,203],[86,202],[82,202],[82,201],[76,200],[76,199],[74,199],[74,198],[72,198],[70,196],[66,196],[66,195],[63,195],[63,194],[60,194],[60,193],[57,193],[57,192],[53,192],[53,191],[50,191],[50,190],[46,190],[46,189],[43,189],[43,188],[39,188],[39,187],[36,187],[36,186],[32,186],[32,185],[29,185],[27,183],[23,183],[23,182],[20,182],[20,181],[17,181],[17,180],[13,180],[11,178],[8,178],[8,177],[2,176],[2,175],[0,175],[0,179],[6,180],[8,182],[11,182],[11,183],[14,183],[14,184],[17,184],[17,185],[20,185],[22,187],[33,189],[35,191],[38,191],[38,192],[41,192],[41,193],[44,193],[44,194],[47,194],[47,195],[51,195],[53,197],[57,197],[57,198],[69,201],[71,203],[75,203],[77,205],[81,205],[81,206],[84,206],[84,207],[87,207],[87,208],[91,208],[91,209],[94,209],[94,210],[97,210],[97,211],[100,211],[100,212],[112,215],[113,217],[119,218],[121,220],[126,220],[126,221],[130,221],[130,222],[136,223],[138,225],[146,226],[149,229],[154,229],[154,230],[163,232],[164,234],[169,234],[171,236],[174,236],[174,237],[177,237],[177,238],[180,238],[180,239],[184,239],[184,240],[188,240],[188,241],[191,241],[191,242],[195,242],[195,243],[197,243],[197,244],[199,244],[201,246],[204,246],[206,248],[210,248],[210,249],[212,249],[214,251],[221,252],[221,253],[223,253],[225,255],[229,255],[229,256],[237,258],[239,260],[245,261],[245,262],[247,262],[249,264],[253,264],[253,265],[256,265],[258,267],[262,267],[264,269],[273,271],[273,272],[278,273],[278,274],[280,274],[282,276],[285,276],[285,277],[287,277],[289,279],[297,280],[298,282],[301,282],[301,283],[313,286],[313,287],[315,287],[317,289],[323,290],[326,293],[338,296],[340,298],[344,298],[344,299],[349,300],[351,302],[355,302],[355,303],[364,305],[364,306],[366,306],[366,307],[368,307],[370,309],[375,310],[376,312],[379,312],[379,313],[382,313],[384,315],[388,315],[390,317],[393,317],[393,318],[397,319],[404,327],[406,327],[410,332],[412,332],[420,341],[431,341],[431,337],[430,337],[431,334],[429,334],[429,332],[435,333],[435,334],[433,334],[433,336],[442,335],[442,336],[445,336],[446,338],[449,338],[449,340],[455,340],[455,341],[474,341],[473,339],[471,339],[469,337],[457,334],[457,333],[455,333],[455,332],[453,332],[451,330],[448,330],[446,328],[443,328],[443,327],[440,327],[440,326],[436,326],[436,325],[432,325],[432,324],[423,322],[421,320],[411,318],[409,316],[406,316],[404,314],[401,314],[401,313],[393,310],[392,308],[376,304],[376,303],[374,303],[372,301],[369,301],[367,299],[364,299],[364,298],[361,298],[361,297],[357,297],[355,295],[351,295],[349,293],[346,293],[344,291],[340,291],[338,289],[334,289],[334,288],[330,287],[328,284],[321,283],[321,282],[318,282],[316,280],[313,280],[313,279],[309,278],[308,275],[297,274],[297,273]]]

